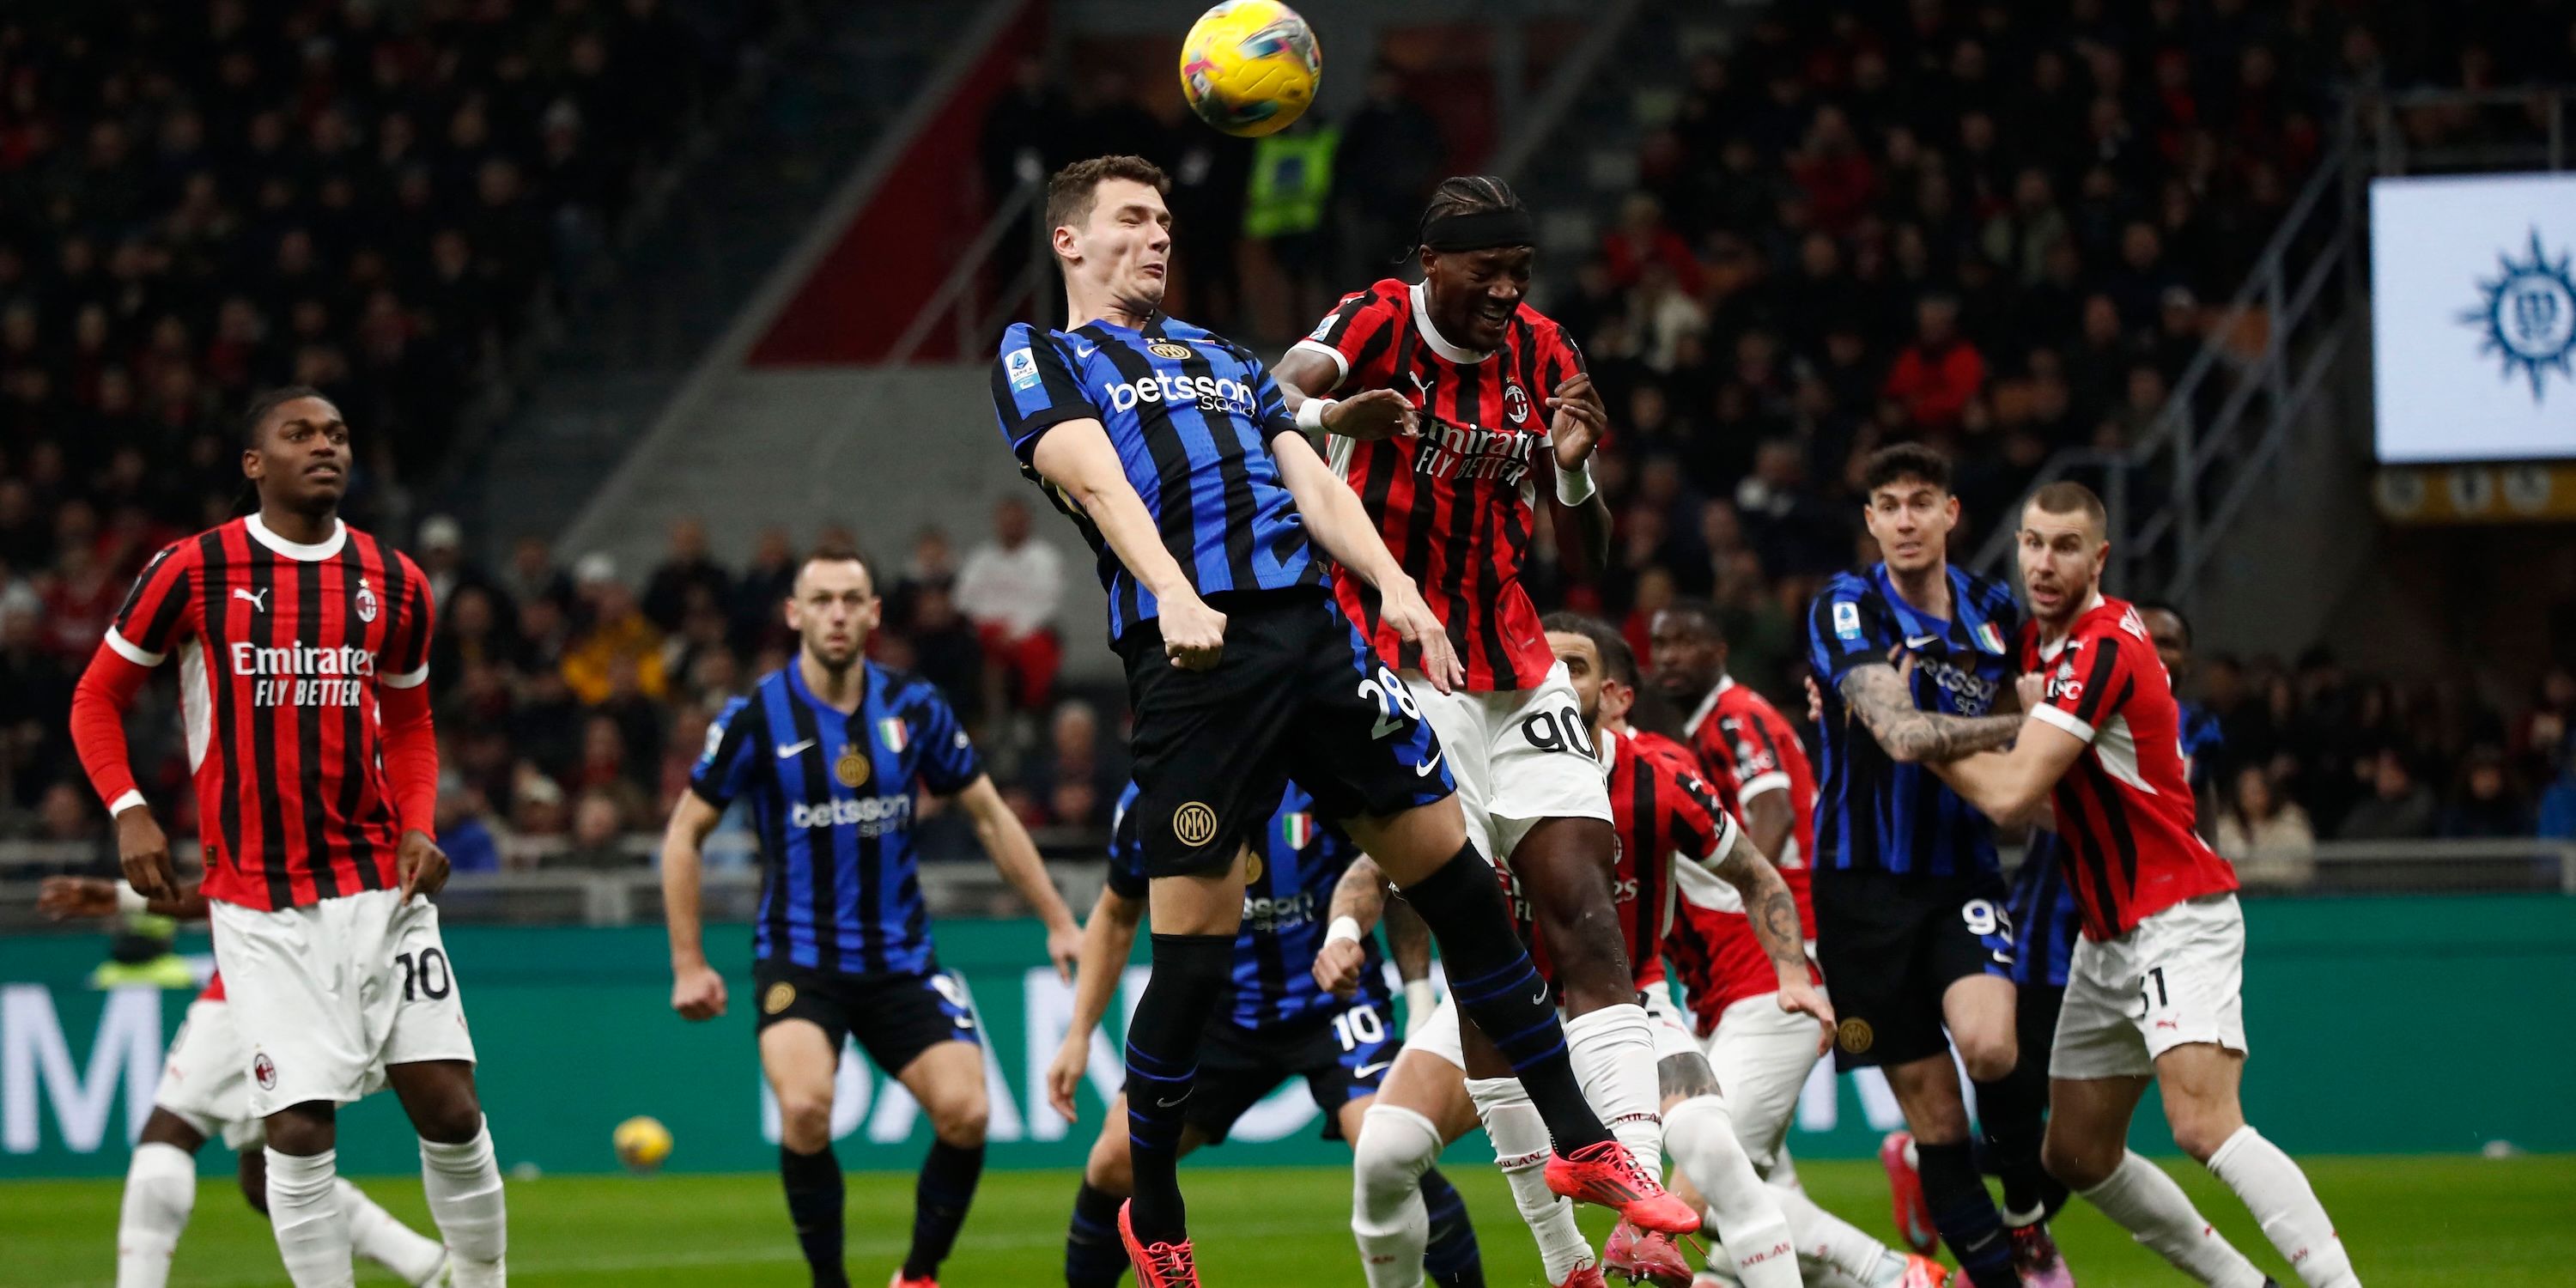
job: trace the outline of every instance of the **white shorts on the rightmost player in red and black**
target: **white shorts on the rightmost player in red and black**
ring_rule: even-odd
[[[2246,917],[2208,894],[2115,940],[2076,940],[2048,1077],[2154,1077],[2184,1043],[2246,1048]]]

